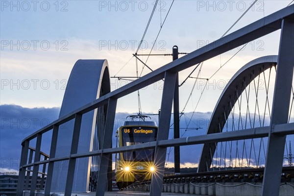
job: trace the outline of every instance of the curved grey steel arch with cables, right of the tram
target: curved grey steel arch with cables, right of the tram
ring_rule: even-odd
[[[222,94],[212,113],[206,134],[222,132],[222,129],[227,120],[224,117],[223,111],[228,111],[228,113],[230,113],[230,107],[235,105],[248,84],[259,75],[253,74],[252,77],[252,73],[259,73],[261,69],[265,71],[270,67],[275,66],[277,64],[277,60],[277,55],[263,56],[250,61],[237,73],[235,73],[230,82],[222,91]],[[235,95],[236,93],[237,95]],[[230,105],[230,103],[232,105]],[[216,143],[206,143],[203,145],[198,165],[198,172],[207,172],[209,170],[212,163],[212,157],[216,150],[216,145]]]

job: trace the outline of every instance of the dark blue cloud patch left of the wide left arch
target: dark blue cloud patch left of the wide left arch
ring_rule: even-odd
[[[25,108],[19,105],[0,105],[0,168],[19,168],[21,142],[25,137],[58,118],[59,108]],[[50,138],[43,136],[43,143]],[[33,147],[35,140],[30,142]],[[49,148],[42,145],[42,150]]]

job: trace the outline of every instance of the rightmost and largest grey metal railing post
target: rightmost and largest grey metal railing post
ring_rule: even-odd
[[[288,123],[294,68],[294,20],[282,21],[277,73],[271,109],[271,131],[276,124]],[[278,196],[286,136],[269,133],[263,196]]]

